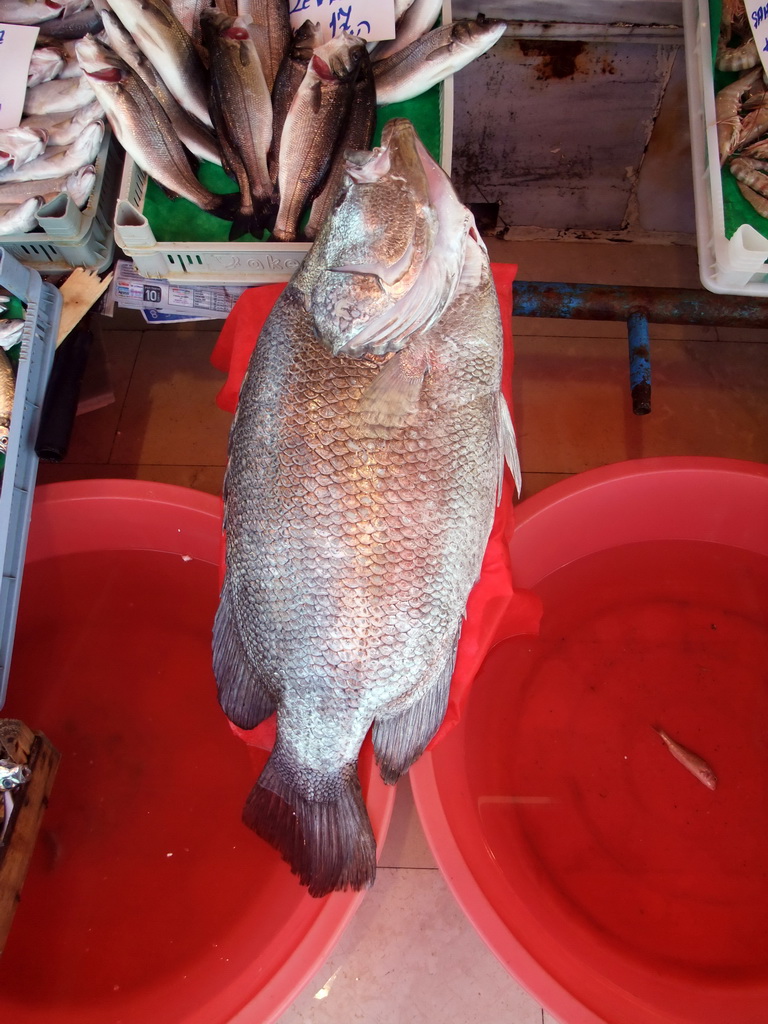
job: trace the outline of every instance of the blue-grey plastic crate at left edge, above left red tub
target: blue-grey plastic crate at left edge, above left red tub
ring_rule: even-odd
[[[61,315],[61,293],[0,249],[0,286],[26,306],[8,451],[0,486],[0,708],[5,701],[30,530],[38,458],[35,441]]]

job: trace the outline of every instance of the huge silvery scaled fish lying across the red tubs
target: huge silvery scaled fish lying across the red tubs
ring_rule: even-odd
[[[445,222],[449,230],[442,230]],[[422,273],[443,247],[442,287]],[[441,314],[393,351],[355,337]],[[376,331],[373,332],[376,334]],[[241,392],[225,484],[214,671],[228,718],[276,710],[244,819],[313,896],[373,882],[356,762],[373,725],[393,783],[443,718],[505,457],[502,326],[485,248],[410,122],[356,155],[278,300]]]

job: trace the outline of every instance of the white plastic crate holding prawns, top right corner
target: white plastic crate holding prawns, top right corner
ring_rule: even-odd
[[[683,17],[701,284],[724,295],[768,296],[768,238],[752,224],[726,238],[709,0],[683,0]]]

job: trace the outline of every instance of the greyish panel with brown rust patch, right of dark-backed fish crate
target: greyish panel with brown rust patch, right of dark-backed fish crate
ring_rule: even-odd
[[[453,178],[500,227],[620,230],[676,46],[503,37],[455,77]]]

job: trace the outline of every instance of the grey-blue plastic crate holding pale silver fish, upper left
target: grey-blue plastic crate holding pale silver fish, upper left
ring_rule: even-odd
[[[113,215],[123,150],[106,128],[94,167],[96,182],[82,210],[66,194],[38,213],[41,231],[4,234],[0,247],[25,266],[58,273],[75,266],[104,270],[115,252]]]

